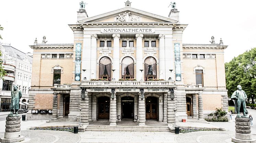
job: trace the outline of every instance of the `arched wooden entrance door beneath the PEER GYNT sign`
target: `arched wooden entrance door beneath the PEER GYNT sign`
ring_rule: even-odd
[[[146,98],[146,119],[157,119],[158,118],[158,98],[147,97]]]

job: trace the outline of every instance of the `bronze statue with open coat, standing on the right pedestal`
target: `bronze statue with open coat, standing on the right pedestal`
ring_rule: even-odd
[[[245,101],[247,100],[247,95],[245,94],[244,90],[242,90],[241,85],[237,85],[237,90],[232,94],[231,99],[235,100],[235,109],[237,112],[237,116],[240,115],[240,112],[246,115],[246,104]],[[240,110],[242,106],[242,109]]]

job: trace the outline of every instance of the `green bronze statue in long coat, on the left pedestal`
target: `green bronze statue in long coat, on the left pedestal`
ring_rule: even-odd
[[[18,114],[18,110],[20,109],[21,97],[22,97],[21,91],[18,89],[18,87],[16,85],[14,85],[13,90],[12,90],[11,113],[10,114]]]

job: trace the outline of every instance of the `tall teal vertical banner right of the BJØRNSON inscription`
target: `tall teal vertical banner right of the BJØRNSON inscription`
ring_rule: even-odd
[[[175,80],[181,81],[181,51],[180,51],[179,43],[174,43],[174,58],[175,58]]]

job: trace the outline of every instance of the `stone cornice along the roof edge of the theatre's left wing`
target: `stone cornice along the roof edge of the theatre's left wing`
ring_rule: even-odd
[[[30,45],[30,48],[32,49],[64,49],[64,48],[73,48],[74,44],[36,44],[36,45]]]

